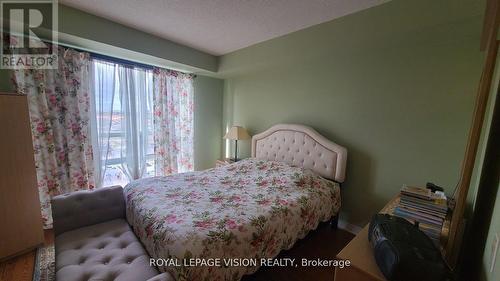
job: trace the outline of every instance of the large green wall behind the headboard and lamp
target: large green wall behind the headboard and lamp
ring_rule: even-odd
[[[391,1],[222,56],[223,127],[301,123],[347,147],[341,216],[353,224],[402,184],[432,181],[451,194],[482,68],[484,4]]]

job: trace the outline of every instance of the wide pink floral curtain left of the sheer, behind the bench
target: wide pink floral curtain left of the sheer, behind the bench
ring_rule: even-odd
[[[58,69],[14,73],[30,112],[38,190],[45,228],[53,196],[94,188],[89,137],[89,54],[59,47]]]

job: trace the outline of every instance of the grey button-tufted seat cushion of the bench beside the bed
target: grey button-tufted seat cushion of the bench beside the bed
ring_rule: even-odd
[[[159,274],[124,219],[68,231],[55,240],[58,281],[147,280]],[[164,277],[154,280],[171,280]]]

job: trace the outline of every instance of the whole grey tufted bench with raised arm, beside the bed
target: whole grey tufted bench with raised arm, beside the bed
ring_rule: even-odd
[[[172,281],[149,256],[125,220],[121,186],[52,199],[57,281]]]

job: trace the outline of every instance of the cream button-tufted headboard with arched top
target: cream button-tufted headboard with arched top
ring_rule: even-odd
[[[278,124],[253,136],[252,157],[311,169],[337,182],[345,179],[347,149],[303,125]]]

